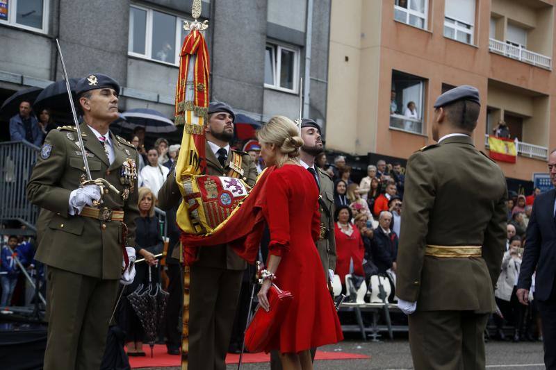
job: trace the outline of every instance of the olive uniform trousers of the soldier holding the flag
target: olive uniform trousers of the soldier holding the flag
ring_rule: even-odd
[[[226,370],[242,276],[243,270],[190,267],[190,370]]]

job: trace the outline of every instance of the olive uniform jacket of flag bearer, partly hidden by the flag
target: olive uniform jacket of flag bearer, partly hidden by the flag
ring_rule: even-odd
[[[231,151],[235,151],[231,149]],[[241,155],[241,168],[243,169],[243,181],[250,187],[255,185],[257,171],[256,166],[248,153],[235,151]],[[228,176],[229,162],[231,155],[228,155],[224,168],[218,162],[210,146],[206,145],[206,174],[210,176]],[[158,191],[158,206],[163,210],[169,210],[181,203],[181,193],[175,180],[175,169],[170,171],[161,190]],[[211,246],[199,248],[199,258],[195,262],[196,266],[216,267],[220,269],[244,270],[247,262],[240,258],[229,246]]]

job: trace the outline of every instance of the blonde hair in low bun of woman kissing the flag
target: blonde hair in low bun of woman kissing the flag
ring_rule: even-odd
[[[276,166],[281,167],[286,160],[294,160],[300,155],[303,139],[297,125],[284,116],[272,117],[257,133],[259,142],[275,144],[277,148]]]

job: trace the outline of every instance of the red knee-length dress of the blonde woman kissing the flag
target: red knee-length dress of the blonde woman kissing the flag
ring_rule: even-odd
[[[315,180],[301,166],[284,165],[269,175],[265,186],[268,249],[270,254],[281,255],[275,284],[293,294],[279,333],[265,351],[297,353],[340,342],[340,321],[315,245],[320,232]]]

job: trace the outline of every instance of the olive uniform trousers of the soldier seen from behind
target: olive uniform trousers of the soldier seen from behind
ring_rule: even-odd
[[[473,311],[410,314],[409,346],[415,369],[484,369],[483,335],[489,316]]]

